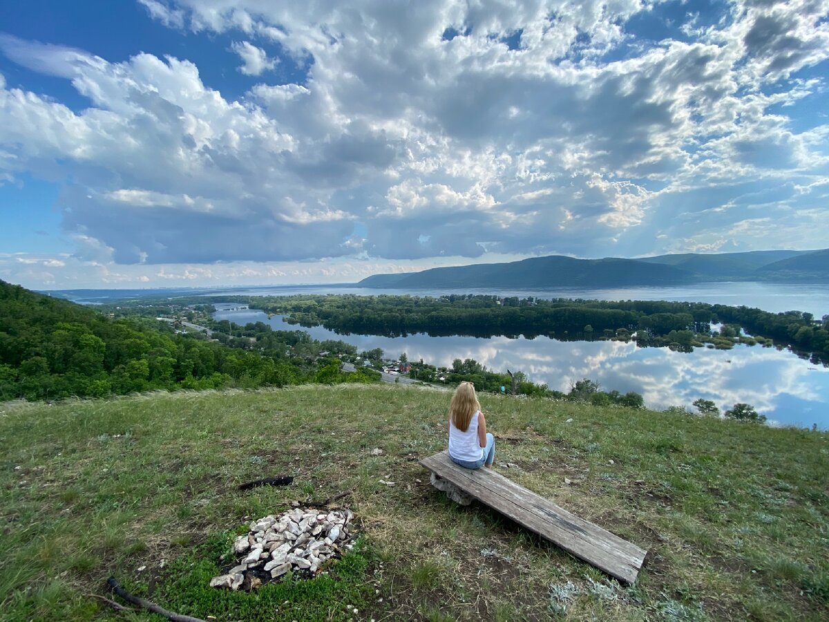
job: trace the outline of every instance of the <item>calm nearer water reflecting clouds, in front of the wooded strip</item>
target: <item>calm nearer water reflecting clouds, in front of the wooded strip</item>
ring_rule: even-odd
[[[641,295],[629,298],[643,299]],[[666,298],[660,295],[654,299]],[[216,319],[242,325],[264,322],[275,330],[301,329],[315,339],[342,339],[360,351],[381,347],[388,357],[405,352],[410,360],[422,358],[439,367],[451,366],[455,358],[473,358],[497,372],[507,368],[520,370],[531,381],[545,382],[558,391],[568,391],[571,382],[590,378],[598,381],[604,391],[636,391],[649,408],[656,410],[668,406],[693,410],[691,402],[702,397],[714,401],[722,411],[745,402],[781,425],[809,427],[817,423],[823,429],[829,428],[829,368],[812,365],[792,352],[778,352],[773,347],[738,345],[733,350],[697,348],[695,352],[683,353],[671,352],[667,347],[637,347],[634,343],[563,342],[546,337],[340,335],[321,326],[302,328],[288,324],[281,316],[268,318],[261,311],[227,311],[221,310],[222,306],[230,305],[217,304],[220,310],[214,314]],[[759,304],[751,306],[763,308]]]

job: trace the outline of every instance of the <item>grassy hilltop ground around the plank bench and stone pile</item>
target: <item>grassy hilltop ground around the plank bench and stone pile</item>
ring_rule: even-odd
[[[216,620],[826,619],[825,433],[481,400],[503,474],[650,550],[636,586],[429,485],[446,392],[158,393],[0,405],[0,620],[161,620],[92,598],[109,575]],[[295,480],[235,489],[277,474]],[[361,543],[330,575],[206,587],[250,519],[348,489]]]

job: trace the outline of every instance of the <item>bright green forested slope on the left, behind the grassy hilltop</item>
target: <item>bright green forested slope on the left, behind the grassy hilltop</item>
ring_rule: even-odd
[[[364,372],[342,374],[336,357],[320,356],[351,352],[349,344],[265,328],[253,340],[211,340],[0,281],[0,400],[369,380]]]

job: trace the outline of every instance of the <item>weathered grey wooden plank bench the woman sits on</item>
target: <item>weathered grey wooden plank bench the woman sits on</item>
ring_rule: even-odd
[[[464,469],[449,459],[448,451],[422,459],[420,464],[481,503],[619,581],[629,584],[636,581],[647,551],[635,544],[574,516],[492,469]]]

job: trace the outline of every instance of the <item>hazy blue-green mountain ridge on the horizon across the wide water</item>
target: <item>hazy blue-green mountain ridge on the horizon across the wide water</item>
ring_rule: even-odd
[[[829,283],[829,249],[755,250],[747,253],[659,255],[630,260],[579,260],[563,255],[504,264],[433,268],[402,275],[372,275],[362,287],[377,289],[500,287],[625,287],[713,281]]]

